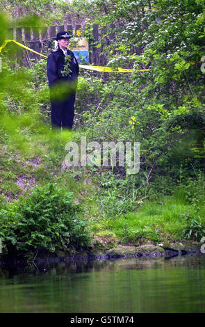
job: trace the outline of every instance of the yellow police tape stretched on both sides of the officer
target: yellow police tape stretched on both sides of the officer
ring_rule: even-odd
[[[3,45],[0,47],[0,52],[1,50],[6,47],[8,42],[15,42],[16,45],[19,45],[19,47],[22,47],[26,50],[29,50],[33,52],[34,54],[38,54],[39,56],[42,56],[44,58],[47,58],[47,56],[44,56],[44,54],[40,54],[37,51],[34,51],[31,48],[26,47],[26,45],[22,45],[22,43],[17,42],[16,40],[6,40],[3,42]],[[129,69],[124,69],[124,68],[110,68],[110,67],[104,67],[104,66],[92,66],[92,65],[79,65],[80,68],[83,68],[85,70],[95,70],[97,72],[133,72],[134,70],[129,70]],[[136,70],[136,72],[149,72],[149,70]]]

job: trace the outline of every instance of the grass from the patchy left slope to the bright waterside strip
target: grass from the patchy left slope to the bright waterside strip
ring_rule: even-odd
[[[161,196],[156,201],[146,200],[140,205],[138,201],[132,208],[130,203],[123,202],[126,195],[123,187],[119,188],[123,186],[123,181],[117,181],[121,183],[120,186],[113,184],[113,188],[109,184],[104,189],[97,171],[87,168],[62,170],[62,162],[67,154],[65,144],[69,140],[69,136],[62,134],[52,136],[50,140],[35,136],[30,139],[28,153],[21,153],[12,144],[7,147],[2,145],[6,150],[2,152],[0,161],[0,195],[3,194],[9,200],[24,196],[24,191],[17,184],[23,175],[25,181],[33,178],[38,185],[51,182],[66,186],[68,191],[74,193],[76,201],[83,204],[92,233],[97,236],[113,235],[115,241],[125,244],[139,244],[143,239],[155,244],[162,240],[183,239],[186,216],[195,217],[195,207],[188,203],[183,186],[178,187],[173,196]],[[38,164],[33,165],[33,159],[38,159]],[[103,178],[104,182],[109,181],[108,176]],[[116,182],[112,182],[112,179],[111,175],[111,184]],[[29,187],[28,191],[31,192]],[[3,203],[2,196],[0,202]],[[198,214],[204,220],[204,205],[199,206]]]

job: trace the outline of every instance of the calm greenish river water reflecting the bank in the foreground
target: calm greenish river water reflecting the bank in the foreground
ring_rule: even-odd
[[[0,312],[205,312],[205,255],[0,267]]]

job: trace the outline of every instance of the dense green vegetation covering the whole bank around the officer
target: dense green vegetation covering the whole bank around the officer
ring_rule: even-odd
[[[101,40],[101,50],[111,67],[135,72],[81,70],[72,132],[51,132],[46,61],[17,67],[8,60],[13,45],[1,55],[0,230],[8,252],[64,250],[66,242],[79,250],[100,247],[99,240],[200,241],[205,234],[204,2],[138,1],[132,10],[130,1],[104,2],[97,1],[92,23],[120,21],[123,29],[116,25],[117,40],[109,47]],[[88,15],[89,6],[74,1],[73,10],[84,8]],[[150,71],[137,71],[143,67]],[[68,169],[65,145],[80,143],[81,136],[140,142],[139,173],[127,175],[126,167],[117,166]],[[56,207],[50,202],[49,187],[56,199],[72,197],[62,216],[55,211],[60,199]],[[53,223],[44,205],[39,214],[35,196],[54,209]],[[78,218],[77,204],[83,209]]]

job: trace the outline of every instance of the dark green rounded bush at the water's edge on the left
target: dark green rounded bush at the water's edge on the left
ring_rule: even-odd
[[[26,198],[0,211],[0,237],[7,252],[49,252],[85,248],[90,243],[82,209],[72,193],[54,184],[35,186]]]

